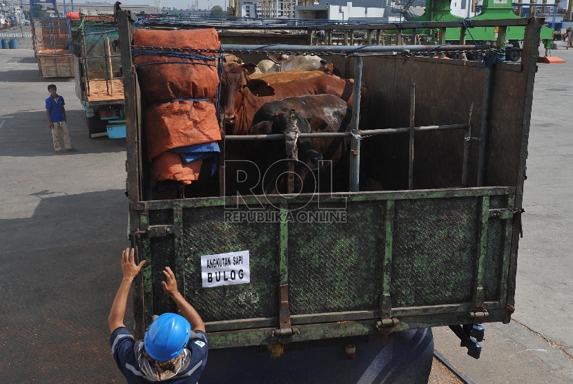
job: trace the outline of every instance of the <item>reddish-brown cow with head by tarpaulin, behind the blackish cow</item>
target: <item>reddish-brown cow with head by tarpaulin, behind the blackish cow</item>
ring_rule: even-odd
[[[224,66],[221,106],[226,108],[225,124],[232,126],[233,135],[246,135],[251,128],[253,117],[260,107],[284,97],[301,95],[335,95],[352,105],[353,84],[329,75],[297,79],[272,86],[262,79],[249,79],[255,64],[239,65],[230,63]],[[366,111],[369,92],[362,87],[360,107]]]

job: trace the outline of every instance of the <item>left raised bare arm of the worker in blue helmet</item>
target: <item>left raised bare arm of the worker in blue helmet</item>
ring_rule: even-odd
[[[125,327],[124,316],[126,314],[127,296],[129,295],[129,289],[131,283],[137,273],[142,270],[146,260],[143,260],[139,265],[135,264],[135,249],[126,249],[122,253],[122,272],[124,273],[124,278],[122,279],[122,284],[119,285],[115,299],[113,300],[113,305],[111,305],[110,316],[108,317],[108,325],[110,327],[110,332],[115,331],[119,327]]]

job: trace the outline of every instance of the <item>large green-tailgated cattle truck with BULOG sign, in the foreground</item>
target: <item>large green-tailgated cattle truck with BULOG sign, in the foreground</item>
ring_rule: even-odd
[[[130,52],[132,35],[142,28],[136,20],[118,13],[128,233],[138,260],[147,260],[133,283],[137,338],[154,314],[177,311],[159,284],[166,265],[206,323],[209,358],[201,383],[426,383],[431,327],[449,325],[477,357],[478,325],[509,323],[543,20],[476,22],[498,27],[499,36],[507,26],[524,26],[519,64],[443,58],[451,50],[498,55],[504,41],[494,48],[443,50],[284,46],[280,37],[276,44],[223,44],[224,52],[239,56],[329,55],[347,68],[355,90],[361,84],[369,89],[368,115],[359,127],[354,99],[352,132],[342,133],[351,139],[349,190],[237,196],[222,186],[220,195],[180,189],[167,200],[150,190],[144,148],[153,137],[144,135],[144,100]],[[157,26],[191,28],[181,20]],[[231,143],[240,145],[241,137],[224,136],[223,126],[222,136],[222,153]],[[256,137],[261,143],[267,138]],[[229,177],[224,164],[222,157],[215,173],[220,180]],[[256,204],[265,217],[280,219],[228,220],[248,218],[247,208]],[[324,209],[343,212],[344,219],[308,220]],[[298,215],[302,211],[307,219]],[[204,287],[205,256],[240,260],[249,282]]]

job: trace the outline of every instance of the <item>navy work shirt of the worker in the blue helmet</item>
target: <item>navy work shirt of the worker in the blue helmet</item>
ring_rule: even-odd
[[[188,342],[187,349],[191,351],[191,361],[182,372],[177,373],[172,378],[168,378],[164,383],[169,384],[195,384],[203,372],[207,363],[207,335],[201,331],[195,331],[197,338]],[[137,363],[135,352],[135,340],[132,334],[125,327],[119,327],[110,336],[110,346],[113,358],[122,374],[126,376],[128,384],[150,383],[158,381],[156,378],[148,377]]]

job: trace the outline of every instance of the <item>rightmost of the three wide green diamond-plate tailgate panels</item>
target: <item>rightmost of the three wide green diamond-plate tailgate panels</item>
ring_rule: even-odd
[[[392,253],[392,307],[472,300],[476,198],[397,200]]]

